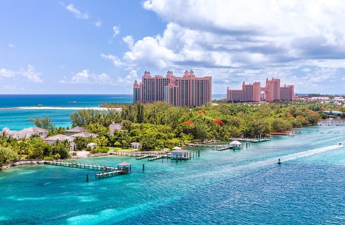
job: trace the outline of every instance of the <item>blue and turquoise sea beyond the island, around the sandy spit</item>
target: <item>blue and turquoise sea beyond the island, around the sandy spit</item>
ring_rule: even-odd
[[[70,103],[75,101],[76,103]],[[51,118],[56,127],[71,127],[69,115],[76,110],[64,109],[11,109],[14,107],[30,107],[42,104],[44,107],[98,107],[100,103],[132,103],[129,94],[104,95],[0,95],[0,129],[22,130],[35,126],[29,118]]]

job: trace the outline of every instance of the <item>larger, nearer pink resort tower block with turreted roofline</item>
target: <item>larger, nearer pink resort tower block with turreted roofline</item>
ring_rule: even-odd
[[[133,103],[164,101],[174,106],[202,106],[212,101],[212,77],[195,77],[193,70],[175,77],[168,71],[166,77],[145,71],[142,81],[133,84]]]

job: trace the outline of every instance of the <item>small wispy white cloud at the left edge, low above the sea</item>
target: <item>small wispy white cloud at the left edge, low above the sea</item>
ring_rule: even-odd
[[[18,71],[13,71],[9,69],[0,69],[0,77],[15,77],[21,75],[27,78],[29,82],[42,83],[43,80],[40,78],[42,73],[36,72],[35,67],[28,65],[27,69],[20,67]]]

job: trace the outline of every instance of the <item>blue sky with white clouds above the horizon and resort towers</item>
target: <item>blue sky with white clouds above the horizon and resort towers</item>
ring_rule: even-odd
[[[132,94],[145,71],[345,94],[343,0],[0,0],[0,94]]]

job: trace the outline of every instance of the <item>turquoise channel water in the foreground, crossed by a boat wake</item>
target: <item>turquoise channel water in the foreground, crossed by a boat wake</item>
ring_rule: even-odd
[[[345,224],[345,127],[301,131],[235,152],[189,148],[200,157],[182,162],[77,160],[132,163],[102,180],[52,165],[0,171],[0,224]]]

